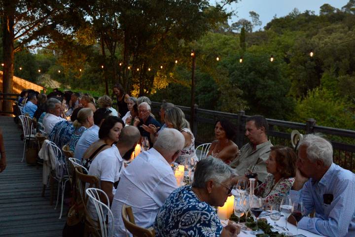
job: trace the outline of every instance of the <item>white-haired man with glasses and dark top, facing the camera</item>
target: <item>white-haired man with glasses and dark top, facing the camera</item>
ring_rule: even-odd
[[[148,138],[149,147],[153,146],[150,139],[150,133],[142,128],[142,125],[149,126],[149,124],[155,125],[155,127],[161,127],[160,123],[150,115],[150,105],[146,102],[142,102],[138,107],[138,117],[134,121],[134,126],[138,127],[141,136]]]

